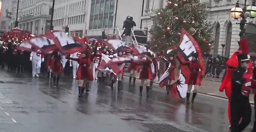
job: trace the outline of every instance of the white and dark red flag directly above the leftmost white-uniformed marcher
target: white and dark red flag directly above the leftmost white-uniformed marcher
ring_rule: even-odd
[[[53,40],[46,37],[33,37],[28,40],[34,51],[41,50],[44,54],[54,50],[56,47]]]

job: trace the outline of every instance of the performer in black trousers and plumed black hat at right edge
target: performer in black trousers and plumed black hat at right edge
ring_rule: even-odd
[[[250,56],[246,53],[237,55],[238,68],[234,71],[231,80],[230,113],[231,131],[243,131],[251,122],[251,104],[249,95],[251,90],[252,71]]]

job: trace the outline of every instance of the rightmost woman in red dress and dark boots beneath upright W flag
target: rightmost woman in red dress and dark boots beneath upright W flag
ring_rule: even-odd
[[[204,76],[204,68],[201,65],[201,63],[198,62],[197,53],[194,53],[192,55],[191,61],[182,62],[180,59],[180,63],[181,65],[188,65],[189,67],[190,77],[185,82],[185,84],[188,84],[187,104],[189,104],[190,92],[193,85],[194,85],[194,91],[193,91],[191,103],[194,103],[197,92],[198,92],[198,87],[201,85],[201,81]]]

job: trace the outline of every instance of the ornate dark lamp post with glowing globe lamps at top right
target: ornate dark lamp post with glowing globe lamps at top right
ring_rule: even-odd
[[[239,6],[239,2],[237,1],[236,6],[231,8],[230,11],[230,15],[231,17],[233,17],[234,19],[239,19],[240,17],[242,18],[240,23],[236,23],[240,25],[240,32],[239,32],[239,37],[243,38],[244,37],[244,33],[245,33],[245,24],[246,23],[246,18],[249,16],[250,18],[254,18],[256,17],[256,6],[255,6],[255,0],[253,0],[252,5],[248,6],[246,8],[246,1],[244,1],[244,7],[241,8]]]

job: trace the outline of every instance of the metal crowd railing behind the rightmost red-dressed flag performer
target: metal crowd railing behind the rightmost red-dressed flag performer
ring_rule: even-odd
[[[226,69],[227,69],[226,65],[206,64],[206,66],[205,66],[205,76],[215,77],[215,78],[223,78]]]

